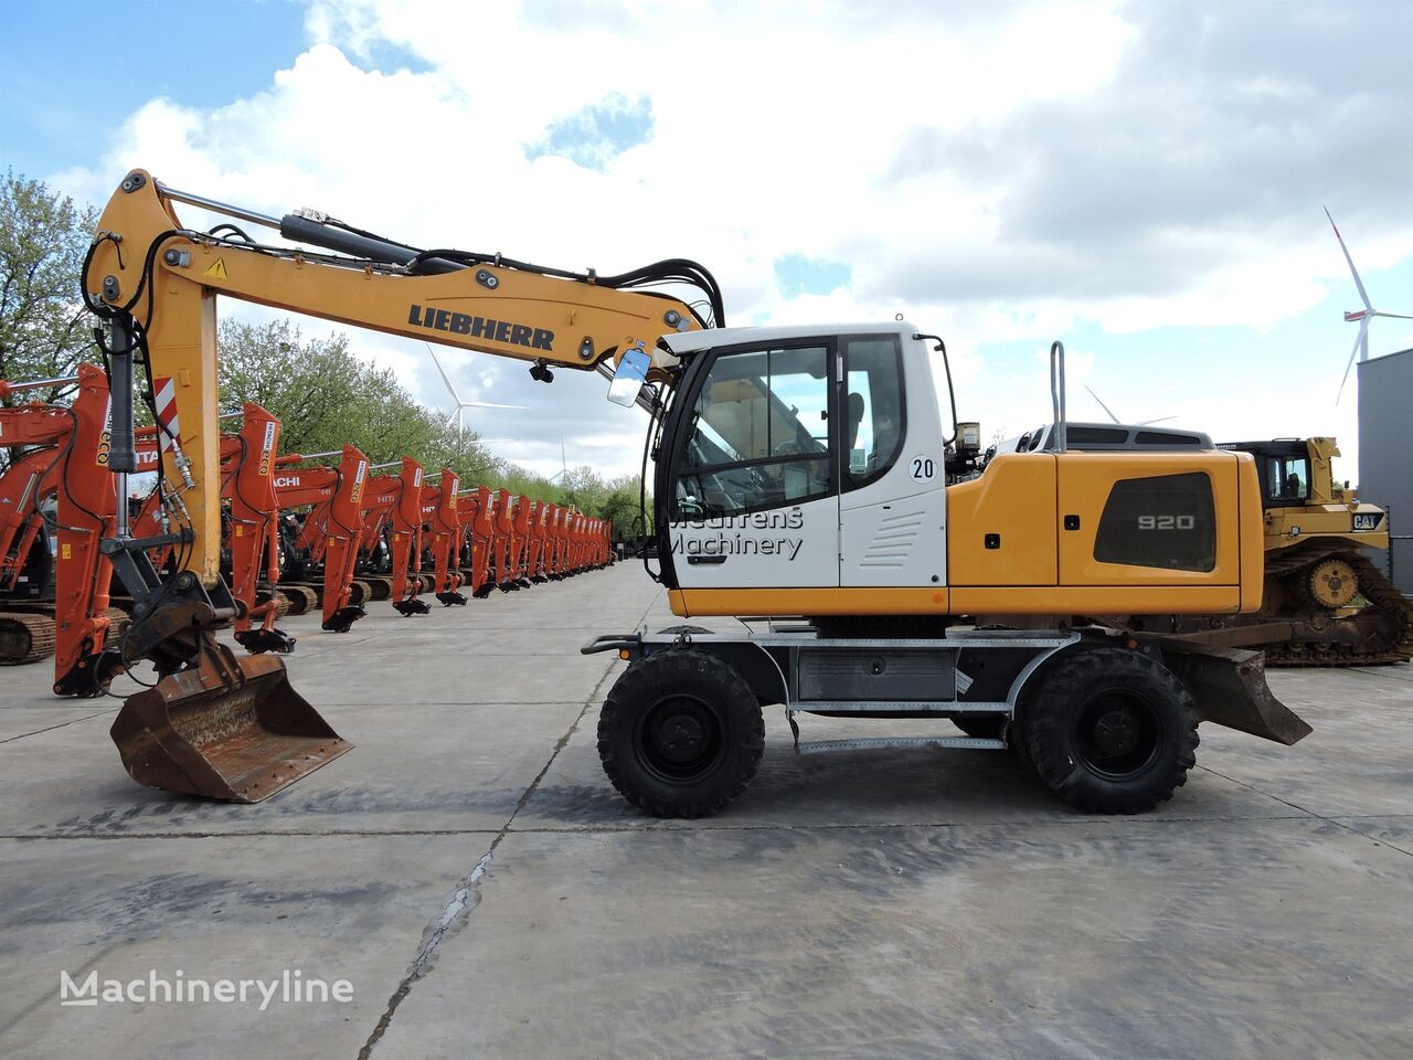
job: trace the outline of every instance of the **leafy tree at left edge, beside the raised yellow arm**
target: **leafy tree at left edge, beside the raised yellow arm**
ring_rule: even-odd
[[[0,177],[0,379],[72,375],[95,351],[79,271],[97,213],[7,170]],[[93,353],[96,356],[96,352]],[[54,400],[64,389],[16,400]]]

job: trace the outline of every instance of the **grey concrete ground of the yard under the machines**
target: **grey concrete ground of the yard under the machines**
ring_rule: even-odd
[[[116,700],[0,670],[0,1052],[1413,1056],[1413,667],[1273,673],[1314,735],[1204,726],[1146,817],[1074,813],[1003,752],[796,758],[774,708],[738,803],[656,821],[593,746],[622,664],[577,652],[644,622],[670,616],[634,564],[287,619],[356,749],[259,806],[136,786]],[[59,1005],[61,971],[287,970],[353,999]]]

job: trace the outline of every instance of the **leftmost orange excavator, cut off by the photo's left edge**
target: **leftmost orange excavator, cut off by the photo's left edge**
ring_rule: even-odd
[[[0,611],[0,650],[7,661],[32,661],[54,646],[57,695],[102,695],[122,671],[122,656],[105,650],[112,567],[99,548],[112,529],[113,481],[107,472],[107,377],[79,365],[76,376],[0,383],[0,394],[78,383],[72,406],[30,403],[0,408],[0,444],[42,447],[13,465],[0,486],[0,543],[28,554],[44,517],[37,499],[57,493],[54,603]],[[10,483],[18,485],[16,492]],[[11,503],[3,503],[6,499]],[[30,506],[25,510],[25,506]]]

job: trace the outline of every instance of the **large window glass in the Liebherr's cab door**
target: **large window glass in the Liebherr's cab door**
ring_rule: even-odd
[[[829,349],[722,353],[692,407],[677,513],[732,516],[832,490]]]

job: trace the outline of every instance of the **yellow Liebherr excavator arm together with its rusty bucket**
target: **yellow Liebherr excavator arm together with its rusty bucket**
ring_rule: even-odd
[[[225,220],[205,232],[189,228],[178,204]],[[140,391],[155,425],[157,505],[167,516],[162,533],[137,537],[120,505],[102,541],[133,596],[124,661],[150,659],[161,676],[124,704],[113,738],[138,782],[236,800],[263,799],[349,745],[290,687],[278,659],[237,660],[213,636],[240,612],[220,577],[219,298],[526,360],[543,382],[557,367],[599,370],[612,376],[609,396],[620,404],[643,403],[642,384],[668,377],[675,358],[660,336],[723,322],[715,278],[691,261],[598,276],[500,254],[421,250],[311,211],[273,218],[179,192],[141,170],[127,174],[105,208],[82,284],[88,307],[107,325],[97,338],[113,394],[107,466],[119,476],[116,493],[126,496],[126,476],[140,468]],[[702,298],[688,305],[644,290],[663,284],[694,285]],[[345,476],[359,473],[357,458],[345,454]],[[359,466],[366,471],[366,461]],[[459,598],[448,554],[459,529],[455,499],[455,479],[444,478],[430,534],[442,602]],[[343,547],[331,534],[338,540],[326,568],[352,570],[356,561],[357,503],[339,516],[349,537]],[[157,572],[154,548],[178,557],[174,574]],[[497,577],[514,574],[497,563]],[[342,598],[325,601],[325,628],[352,620],[352,611]]]

